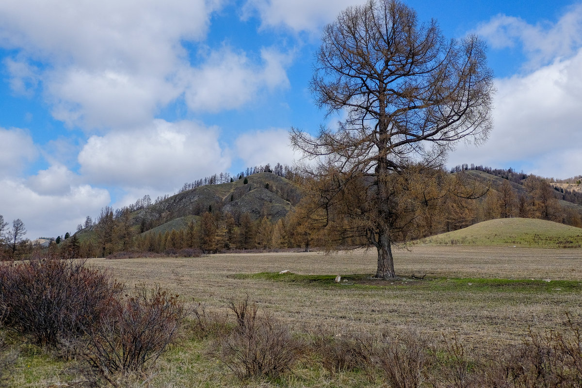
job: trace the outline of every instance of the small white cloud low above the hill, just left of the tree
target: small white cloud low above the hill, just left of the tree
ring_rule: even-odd
[[[288,130],[257,130],[236,139],[236,152],[244,166],[264,166],[267,163],[271,167],[276,163],[291,166],[300,154],[294,152],[289,144]]]

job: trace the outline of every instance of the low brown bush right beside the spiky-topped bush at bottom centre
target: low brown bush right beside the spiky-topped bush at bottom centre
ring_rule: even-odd
[[[318,329],[311,335],[313,352],[321,359],[328,372],[374,369],[377,344],[374,338],[363,332],[333,333]]]

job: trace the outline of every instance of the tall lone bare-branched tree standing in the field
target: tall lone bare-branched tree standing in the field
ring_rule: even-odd
[[[343,238],[374,245],[376,277],[393,278],[391,246],[410,225],[407,195],[456,143],[484,141],[491,129],[485,47],[475,35],[446,40],[435,20],[419,24],[394,0],[343,10],[321,40],[310,88],[327,116],[345,119],[316,137],[292,129],[290,138],[312,160],[306,171],[326,225],[334,214],[348,219]]]

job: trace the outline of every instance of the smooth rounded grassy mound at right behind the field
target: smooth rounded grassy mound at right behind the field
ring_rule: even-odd
[[[517,247],[580,248],[582,229],[529,218],[488,220],[464,229],[416,241],[428,245],[516,245]]]

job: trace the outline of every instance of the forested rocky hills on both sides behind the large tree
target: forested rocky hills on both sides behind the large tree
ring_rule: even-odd
[[[450,173],[479,183],[487,194],[477,200],[444,195],[430,207],[413,209],[410,222],[414,223],[414,237],[515,217],[582,227],[580,193],[562,191],[541,177],[468,166]],[[56,248],[74,251],[74,256],[95,257],[117,251],[163,253],[198,248],[218,252],[327,244],[328,234],[311,224],[308,212],[297,206],[303,195],[300,184],[295,183],[300,181],[299,176],[292,172],[286,176],[293,180],[271,172],[218,180],[226,183],[217,183],[212,177],[208,179],[210,184],[191,184],[153,204],[146,196],[115,211],[106,207],[95,222],[87,217],[86,227],[79,227],[74,240],[69,238]],[[412,237],[395,234],[396,240]],[[362,241],[341,243],[357,245]]]

